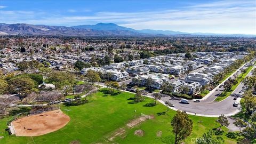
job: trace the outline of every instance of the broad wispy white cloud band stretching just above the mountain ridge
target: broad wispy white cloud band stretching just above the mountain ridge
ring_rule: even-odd
[[[82,10],[68,10],[82,12]],[[86,11],[86,10],[83,10]],[[88,10],[89,11],[89,10]],[[67,16],[32,11],[0,11],[1,22],[44,25],[84,25],[114,22],[134,29],[185,32],[256,34],[256,1],[221,1],[190,5],[183,9],[143,12],[97,12]]]

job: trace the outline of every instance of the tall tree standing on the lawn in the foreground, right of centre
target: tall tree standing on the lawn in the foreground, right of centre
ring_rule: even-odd
[[[171,125],[173,126],[172,132],[175,134],[175,144],[180,143],[181,140],[186,139],[192,133],[193,122],[185,111],[178,110],[172,118]]]

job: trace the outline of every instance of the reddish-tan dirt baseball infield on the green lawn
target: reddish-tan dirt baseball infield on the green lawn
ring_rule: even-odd
[[[58,109],[19,118],[13,121],[11,125],[14,128],[16,136],[30,137],[57,131],[68,124],[69,121],[69,116]]]

